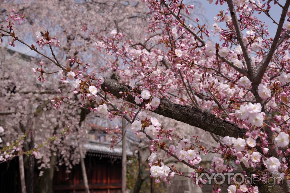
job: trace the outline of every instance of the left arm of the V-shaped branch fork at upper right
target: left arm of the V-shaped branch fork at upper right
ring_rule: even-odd
[[[243,34],[242,34],[242,30],[240,28],[240,24],[239,24],[239,21],[237,18],[237,13],[235,12],[233,1],[227,0],[226,2],[228,3],[229,10],[231,13],[231,18],[233,20],[233,24],[235,26],[235,31],[236,31],[236,34],[238,36],[237,39],[238,39],[238,42],[241,46],[241,49],[242,49],[242,52],[243,52],[243,55],[244,55],[244,58],[245,58],[245,61],[247,64],[247,69],[248,69],[249,75],[250,75],[249,79],[253,80],[253,78],[255,77],[256,68],[254,67],[251,56],[250,56],[249,52],[247,51],[247,46],[245,45],[245,43],[243,41]]]

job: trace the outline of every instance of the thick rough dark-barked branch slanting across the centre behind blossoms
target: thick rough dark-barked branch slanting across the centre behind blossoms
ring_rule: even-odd
[[[117,98],[122,98],[123,96],[123,94],[119,94],[119,92],[130,92],[129,86],[110,78],[106,78],[101,87],[103,91],[109,91]],[[127,95],[126,101],[137,106],[142,106],[142,104],[136,104],[135,98],[130,94]],[[238,128],[237,126],[226,122],[215,115],[204,113],[191,106],[175,104],[164,98],[160,98],[160,105],[152,112],[187,123],[191,126],[201,128],[222,137],[243,137],[246,133],[246,130]]]

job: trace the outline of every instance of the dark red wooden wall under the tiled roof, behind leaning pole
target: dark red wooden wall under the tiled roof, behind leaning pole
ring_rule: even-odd
[[[90,193],[121,193],[121,160],[86,156],[86,172]],[[53,190],[56,193],[85,193],[80,165],[66,173],[65,166],[55,171]]]

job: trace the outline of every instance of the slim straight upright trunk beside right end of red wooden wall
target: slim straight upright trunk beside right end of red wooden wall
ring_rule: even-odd
[[[122,119],[122,193],[126,193],[127,181],[127,154],[126,154],[126,126],[125,119]]]

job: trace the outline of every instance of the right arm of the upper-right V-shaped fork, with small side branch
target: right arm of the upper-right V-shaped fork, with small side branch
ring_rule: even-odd
[[[283,7],[283,10],[282,10],[282,14],[281,14],[281,17],[280,17],[280,21],[279,21],[279,24],[278,24],[278,28],[277,28],[277,31],[276,31],[276,35],[274,37],[274,40],[273,40],[273,43],[271,45],[271,48],[267,54],[267,56],[260,62],[260,64],[258,65],[258,73],[257,73],[257,77],[256,77],[256,82],[257,83],[260,83],[262,78],[263,78],[263,75],[273,57],[273,54],[275,52],[275,50],[278,48],[278,46],[285,40],[285,38],[288,37],[288,32],[285,32],[285,34],[282,36],[282,38],[280,38],[280,35],[282,33],[282,30],[283,30],[283,24],[284,24],[284,21],[285,21],[285,17],[286,17],[286,14],[287,14],[287,11],[288,11],[288,8],[289,8],[289,5],[290,5],[290,0],[287,0],[284,7]],[[279,41],[279,38],[280,38],[280,41]]]

